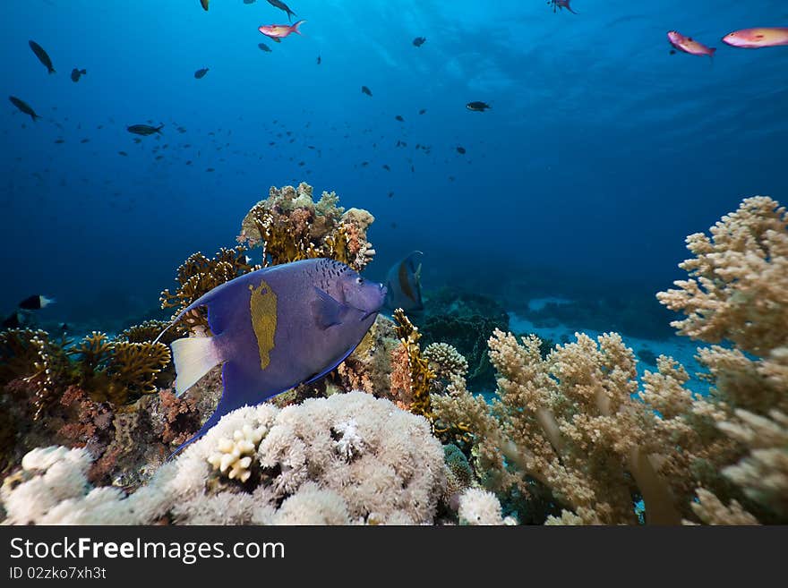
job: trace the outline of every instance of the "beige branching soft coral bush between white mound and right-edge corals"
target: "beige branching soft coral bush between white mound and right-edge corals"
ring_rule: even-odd
[[[477,472],[491,490],[516,485],[527,494],[539,481],[564,506],[593,511],[608,524],[636,522],[634,502],[642,497],[650,522],[679,523],[651,457],[663,448],[649,434],[655,416],[632,398],[638,383],[631,349],[616,334],[576,337],[543,359],[537,337],[518,344],[496,330],[489,342],[499,373],[492,412],[461,392],[433,396],[436,413],[470,423]]]

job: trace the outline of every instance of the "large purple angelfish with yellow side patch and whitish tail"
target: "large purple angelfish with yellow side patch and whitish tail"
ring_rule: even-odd
[[[223,392],[216,412],[176,453],[230,411],[336,368],[361,343],[385,297],[383,285],[323,258],[258,269],[201,296],[173,323],[206,306],[213,337],[173,342],[176,394],[219,363]]]

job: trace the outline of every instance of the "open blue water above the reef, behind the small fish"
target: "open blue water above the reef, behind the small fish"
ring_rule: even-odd
[[[3,98],[4,312],[41,293],[60,320],[145,315],[190,253],[234,244],[271,185],[301,180],[377,217],[371,275],[421,249],[425,288],[492,294],[553,275],[654,292],[681,277],[687,234],[742,197],[788,200],[788,47],[719,41],[788,25],[784,2],[288,4],[304,35],[277,44],[257,27],[287,16],[265,0],[4,2],[4,94],[43,116]],[[714,62],[669,55],[672,29]],[[135,144],[126,126],[149,120],[162,137]]]

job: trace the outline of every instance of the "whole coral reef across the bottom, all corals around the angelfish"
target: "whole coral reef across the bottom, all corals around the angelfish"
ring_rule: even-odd
[[[302,183],[271,189],[239,239],[263,245],[262,265],[320,254],[363,268],[371,222]],[[327,378],[227,414],[171,462],[212,413],[221,369],[177,398],[167,346],[151,343],[166,323],[75,344],[0,332],[5,522],[784,524],[788,215],[743,200],[688,249],[689,279],[657,297],[708,345],[703,395],[647,349],[638,379],[616,333],[518,338],[484,297],[439,294],[424,328],[401,310],[379,316]],[[258,267],[244,251],[195,254],[163,298],[182,309]],[[488,377],[492,404],[469,391]]]

